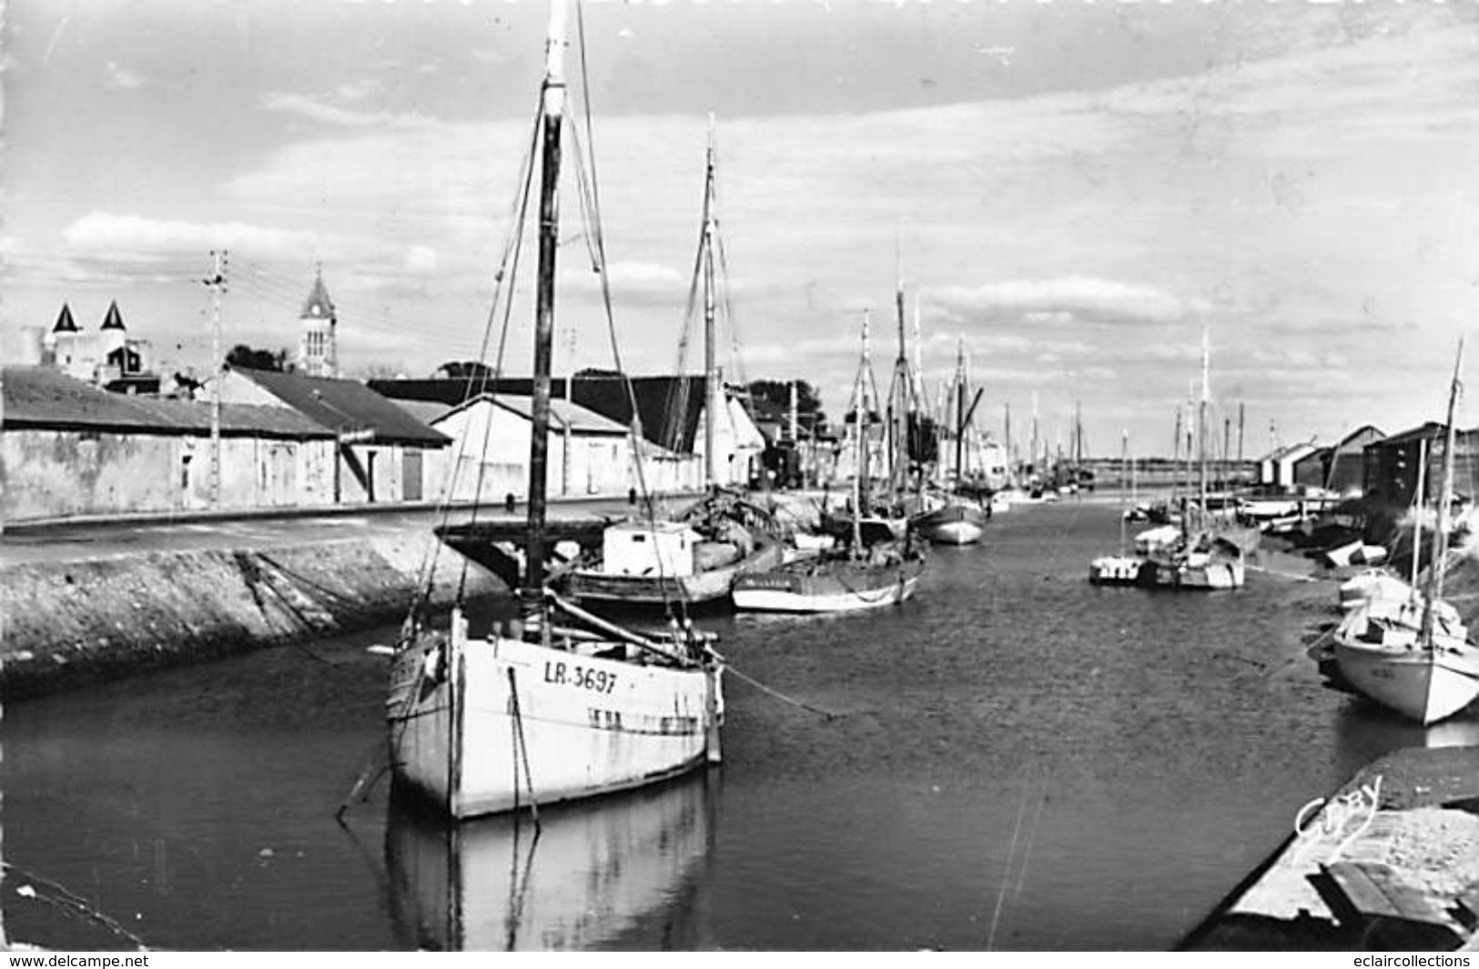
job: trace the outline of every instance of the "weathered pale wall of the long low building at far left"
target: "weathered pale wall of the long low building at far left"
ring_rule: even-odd
[[[333,500],[331,441],[220,439],[220,507],[322,506]],[[6,521],[209,509],[204,436],[6,431]]]

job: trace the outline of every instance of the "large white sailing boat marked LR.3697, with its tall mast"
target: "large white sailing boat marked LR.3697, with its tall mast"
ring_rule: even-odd
[[[553,0],[540,98],[534,401],[522,615],[473,636],[407,620],[386,703],[395,780],[456,818],[639,787],[719,760],[723,660],[711,638],[639,635],[546,587],[565,10]]]

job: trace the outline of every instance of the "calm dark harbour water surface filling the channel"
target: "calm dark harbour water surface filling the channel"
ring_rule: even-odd
[[[1362,763],[1479,743],[1472,713],[1423,731],[1319,683],[1330,584],[1089,586],[1117,541],[1109,506],[1016,509],[901,608],[710,620],[837,716],[731,678],[720,769],[547,809],[538,839],[385,784],[336,824],[383,743],[389,630],[16,704],[10,877],[188,950],[1164,948]],[[16,938],[120,944],[4,898]]]

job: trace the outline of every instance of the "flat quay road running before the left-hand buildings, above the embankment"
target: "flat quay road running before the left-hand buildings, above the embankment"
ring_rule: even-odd
[[[568,513],[620,516],[630,510],[632,506],[620,497],[556,499],[550,503],[552,518]],[[515,515],[519,519],[525,515],[522,503],[515,506]],[[256,510],[237,515],[180,513],[9,525],[0,531],[0,567],[185,549],[253,549],[376,534],[404,536],[429,531],[442,522],[442,510],[424,504],[382,504],[353,509],[284,509],[280,513]],[[447,521],[464,522],[470,516],[470,506],[456,506]],[[503,516],[507,516],[507,512],[501,504],[478,510],[479,521]]]

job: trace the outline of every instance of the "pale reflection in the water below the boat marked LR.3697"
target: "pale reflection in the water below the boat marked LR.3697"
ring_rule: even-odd
[[[713,837],[704,774],[453,823],[390,800],[386,867],[405,942],[429,950],[700,948],[695,895]]]

